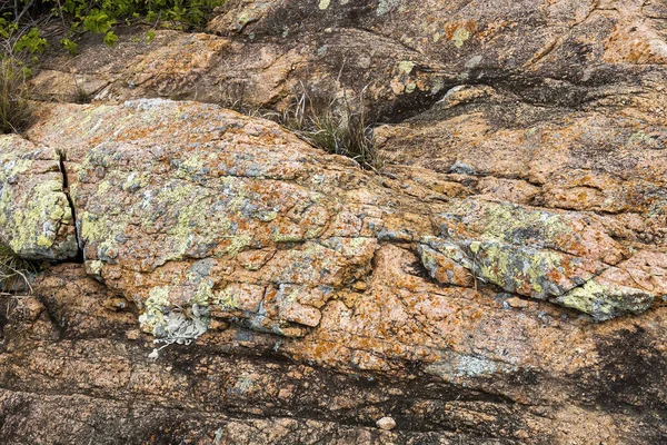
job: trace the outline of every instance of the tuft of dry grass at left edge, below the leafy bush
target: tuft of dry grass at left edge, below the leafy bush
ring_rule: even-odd
[[[32,106],[26,83],[30,70],[16,58],[0,58],[0,129],[19,132],[30,125]]]

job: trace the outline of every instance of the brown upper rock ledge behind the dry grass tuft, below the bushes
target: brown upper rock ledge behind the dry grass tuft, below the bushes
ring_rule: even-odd
[[[639,0],[230,0],[209,24],[219,36],[161,31],[147,43],[139,31],[113,50],[83,43],[82,57],[53,58],[37,82],[57,97],[79,89],[104,100],[262,106],[305,80],[368,86],[392,120],[436,105],[477,116],[470,108],[484,102],[491,129],[528,130],[551,115],[563,123],[568,110],[597,108],[623,119],[628,106],[664,119],[666,17],[663,2]],[[634,142],[665,144],[659,128],[641,123]]]

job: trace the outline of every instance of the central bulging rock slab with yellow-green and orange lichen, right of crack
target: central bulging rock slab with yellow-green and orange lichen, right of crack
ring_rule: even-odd
[[[171,308],[195,305],[206,310],[193,318],[302,336],[327,301],[375,291],[374,258],[391,244],[462,287],[448,293],[479,280],[598,320],[661,296],[631,270],[611,274],[629,253],[595,218],[484,200],[425,206],[272,122],[211,106],[47,112],[31,138],[67,147],[88,270],[137,301],[159,336],[185,323]],[[68,129],[53,131],[61,119]]]

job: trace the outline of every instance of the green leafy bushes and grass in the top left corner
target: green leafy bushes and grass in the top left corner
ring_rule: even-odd
[[[223,0],[7,0],[0,2],[0,131],[19,132],[30,123],[27,79],[37,57],[49,42],[44,29],[57,28],[60,44],[70,53],[84,32],[102,34],[104,43],[118,41],[119,24],[146,23],[155,38],[158,27],[197,29]],[[54,27],[56,26],[56,27]],[[51,39],[53,40],[53,39]],[[79,93],[78,101],[87,101]]]

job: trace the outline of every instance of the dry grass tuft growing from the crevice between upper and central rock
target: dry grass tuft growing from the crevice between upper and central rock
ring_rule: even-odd
[[[356,97],[322,97],[303,85],[278,121],[310,145],[347,156],[362,168],[381,170],[372,121],[365,103],[366,88]]]

